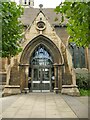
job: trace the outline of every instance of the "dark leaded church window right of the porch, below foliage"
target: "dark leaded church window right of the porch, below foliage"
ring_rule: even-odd
[[[78,47],[75,43],[69,43],[74,68],[85,68],[85,48]]]

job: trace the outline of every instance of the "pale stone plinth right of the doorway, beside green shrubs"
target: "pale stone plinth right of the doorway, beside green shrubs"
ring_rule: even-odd
[[[63,85],[61,93],[71,96],[80,96],[77,85]]]

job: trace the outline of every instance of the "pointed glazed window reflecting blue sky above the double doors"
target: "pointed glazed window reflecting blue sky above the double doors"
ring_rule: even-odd
[[[47,51],[47,49],[40,45],[33,53],[31,58],[31,64],[32,65],[51,65],[53,63],[53,59]]]

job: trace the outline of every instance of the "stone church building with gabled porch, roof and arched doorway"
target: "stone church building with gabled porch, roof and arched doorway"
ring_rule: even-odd
[[[54,92],[79,95],[76,85],[76,69],[89,72],[89,49],[69,43],[66,19],[53,8],[34,8],[34,1],[21,0],[24,25],[21,40],[22,52],[11,59],[2,60],[2,84],[4,94],[30,92]]]

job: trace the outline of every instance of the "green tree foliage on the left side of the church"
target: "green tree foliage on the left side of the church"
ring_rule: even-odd
[[[2,10],[0,13],[0,17],[2,17],[0,56],[15,56],[21,51],[19,42],[22,39],[23,25],[19,18],[23,14],[23,8],[15,2],[0,2],[0,8]]]

